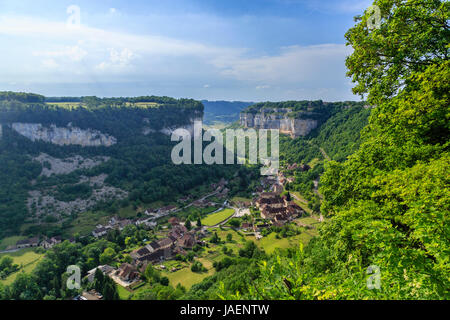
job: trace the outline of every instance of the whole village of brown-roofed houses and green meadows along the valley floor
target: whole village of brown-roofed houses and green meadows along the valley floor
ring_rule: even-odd
[[[294,164],[288,169],[308,170],[308,167]],[[264,241],[264,237],[271,237],[273,230],[281,230],[291,223],[296,227],[306,227],[305,224],[299,222],[299,218],[304,218],[308,214],[304,208],[299,206],[299,202],[289,192],[286,193],[284,189],[284,185],[291,179],[293,177],[286,178],[281,171],[278,176],[261,178],[260,184],[251,199],[230,198],[228,196],[230,191],[227,187],[228,181],[221,179],[219,182],[211,184],[210,192],[199,199],[182,197],[177,202],[178,206],[170,204],[158,208],[146,208],[142,210],[139,217],[135,218],[113,216],[106,224],[96,225],[91,232],[91,236],[100,239],[106,237],[108,232],[112,230],[121,232],[127,226],[134,225],[145,230],[153,230],[152,232],[157,234],[157,237],[145,241],[142,246],[127,252],[129,255],[127,262],[99,265],[88,271],[84,279],[92,282],[98,269],[114,280],[128,294],[144,283],[142,275],[148,265],[152,265],[157,270],[167,274],[169,278],[173,275],[171,282],[176,282],[175,275],[186,272],[183,270],[189,270],[189,261],[193,259],[197,259],[202,265],[205,265],[205,270],[208,270],[208,272],[199,275],[189,270],[189,273],[184,276],[201,279],[210,275],[212,266],[220,258],[227,254],[233,254],[233,250],[236,253],[242,247],[242,244],[237,241],[239,237],[240,241],[243,242],[249,239],[259,242]],[[182,218],[182,213],[190,208],[200,210],[213,208],[215,210],[207,214],[201,221],[187,222],[186,219]],[[211,220],[212,217],[214,219]],[[208,219],[211,222],[208,222]],[[307,227],[308,229],[311,228],[310,226]],[[218,242],[221,238],[228,240],[228,244],[220,246],[223,252],[219,252],[219,246],[211,240],[214,238],[213,236],[219,239]],[[72,243],[75,242],[73,238],[67,240]],[[268,238],[267,242],[273,242],[273,240]],[[50,249],[62,241],[61,237],[42,239],[33,237],[18,241],[15,246],[9,247],[8,250],[14,251],[38,246]],[[291,244],[289,240],[289,245]],[[227,252],[227,250],[229,251]],[[181,279],[179,283],[185,282]],[[98,300],[101,299],[101,296],[95,291],[89,291],[84,292],[76,299]]]

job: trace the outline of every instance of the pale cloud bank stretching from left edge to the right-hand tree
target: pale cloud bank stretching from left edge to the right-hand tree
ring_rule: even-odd
[[[333,96],[348,91],[344,62],[351,51],[340,44],[291,46],[272,55],[258,56],[253,52],[250,57],[246,48],[218,47],[86,25],[68,29],[65,22],[0,15],[1,35],[13,36],[24,43],[22,48],[4,46],[0,51],[0,74],[8,81],[60,83],[64,79],[84,84],[154,81],[169,88],[192,83],[200,94],[238,88],[234,90],[260,95],[262,100],[275,96],[307,97],[307,92],[314,96],[327,94],[324,89],[327,87],[333,88],[328,91]],[[26,50],[29,47],[34,48],[31,54]],[[11,63],[14,61],[11,57],[21,63]]]

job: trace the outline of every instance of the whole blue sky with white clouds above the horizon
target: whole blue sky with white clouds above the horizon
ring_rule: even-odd
[[[359,100],[344,34],[370,0],[93,2],[0,0],[0,91]]]

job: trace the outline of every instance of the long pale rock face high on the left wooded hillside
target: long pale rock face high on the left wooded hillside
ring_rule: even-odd
[[[44,127],[40,123],[13,123],[12,129],[31,141],[41,140],[56,145],[80,145],[83,147],[110,147],[117,143],[113,136],[97,130],[83,130],[76,127],[60,128],[55,125]]]

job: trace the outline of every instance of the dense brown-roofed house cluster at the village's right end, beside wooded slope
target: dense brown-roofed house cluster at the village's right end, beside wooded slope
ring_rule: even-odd
[[[263,192],[255,201],[255,206],[261,212],[261,218],[271,220],[273,225],[283,226],[288,221],[304,214],[294,201],[287,196],[280,197],[277,192]]]

